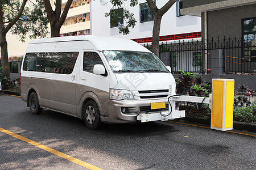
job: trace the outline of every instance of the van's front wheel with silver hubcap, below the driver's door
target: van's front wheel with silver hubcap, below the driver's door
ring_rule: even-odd
[[[98,106],[93,100],[89,100],[84,107],[84,121],[89,129],[98,129],[101,127],[100,112]]]

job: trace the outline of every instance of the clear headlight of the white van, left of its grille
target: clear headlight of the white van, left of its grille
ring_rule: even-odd
[[[110,88],[110,99],[123,100],[123,99],[134,99],[133,93],[130,90],[118,90]]]

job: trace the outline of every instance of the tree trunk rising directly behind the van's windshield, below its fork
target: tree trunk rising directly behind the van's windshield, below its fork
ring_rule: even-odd
[[[152,46],[151,51],[159,58],[159,35],[160,35],[160,24],[162,16],[159,16],[158,13],[155,13],[154,27],[152,32]]]

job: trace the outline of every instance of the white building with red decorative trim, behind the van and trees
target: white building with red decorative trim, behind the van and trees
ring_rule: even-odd
[[[155,1],[158,8],[164,6],[168,0]],[[132,39],[137,42],[151,42],[152,28],[154,20],[150,15],[146,0],[138,0],[138,5],[130,7],[130,1],[125,1],[125,7],[134,14],[137,23],[133,29],[130,29],[129,35],[119,33],[118,26],[110,26],[110,18],[105,18],[105,13],[109,12],[113,5],[109,0],[90,2],[91,33],[97,36],[117,36]],[[170,10],[163,15],[160,27],[160,40],[183,40],[183,39],[201,39],[201,18],[197,16],[179,15],[183,1],[176,2]],[[122,22],[118,23],[122,24]],[[123,24],[126,24],[125,20]]]

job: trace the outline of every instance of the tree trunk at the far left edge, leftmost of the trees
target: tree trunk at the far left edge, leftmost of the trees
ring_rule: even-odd
[[[3,76],[10,77],[6,34],[3,35],[2,33],[0,33],[0,46],[1,46],[1,63],[2,63],[2,69],[3,69]]]

